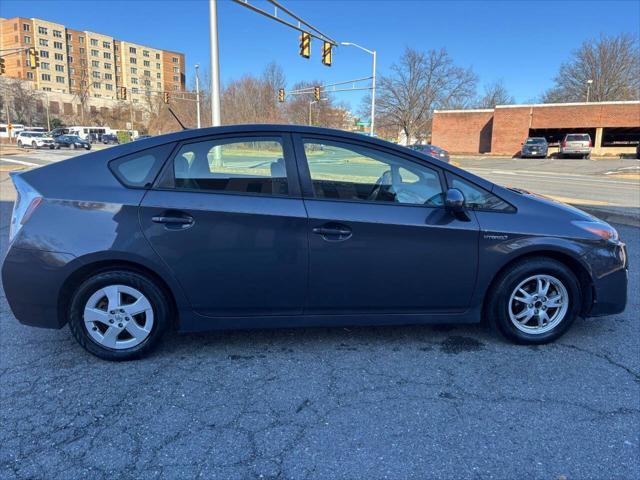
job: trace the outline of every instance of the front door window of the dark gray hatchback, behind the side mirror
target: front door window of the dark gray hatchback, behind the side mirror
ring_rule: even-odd
[[[443,204],[438,171],[356,144],[303,139],[316,198],[380,203]]]

